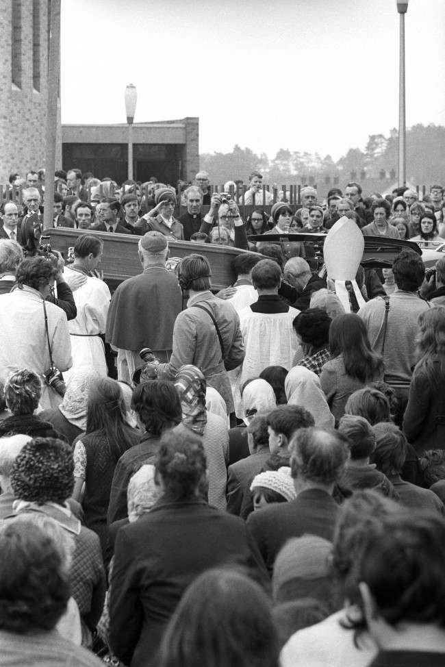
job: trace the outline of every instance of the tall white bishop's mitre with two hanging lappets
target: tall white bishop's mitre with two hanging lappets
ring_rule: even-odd
[[[357,223],[342,216],[329,229],[323,246],[323,258],[328,278],[335,283],[335,294],[342,302],[345,312],[351,312],[346,280],[350,280],[359,307],[364,305],[364,298],[359,290],[355,276],[363,257],[365,240]]]

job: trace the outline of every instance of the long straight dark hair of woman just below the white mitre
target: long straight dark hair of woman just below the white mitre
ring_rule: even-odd
[[[333,318],[329,348],[333,359],[343,355],[346,373],[361,382],[374,380],[383,369],[383,359],[372,351],[363,320],[354,313]]]

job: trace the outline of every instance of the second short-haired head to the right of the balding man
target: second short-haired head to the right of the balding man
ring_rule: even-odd
[[[387,477],[400,475],[408,451],[405,433],[390,422],[376,424],[373,430],[376,442],[372,461]]]

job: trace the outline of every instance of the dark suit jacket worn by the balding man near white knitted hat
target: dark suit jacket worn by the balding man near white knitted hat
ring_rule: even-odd
[[[290,538],[309,533],[332,541],[338,512],[338,505],[327,492],[308,489],[293,501],[272,503],[249,514],[247,527],[272,572],[277,554]]]

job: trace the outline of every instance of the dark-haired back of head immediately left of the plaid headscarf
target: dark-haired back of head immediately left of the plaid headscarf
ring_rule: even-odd
[[[181,401],[175,385],[164,380],[149,380],[138,385],[131,397],[134,410],[147,433],[159,438],[165,429],[180,424]]]

